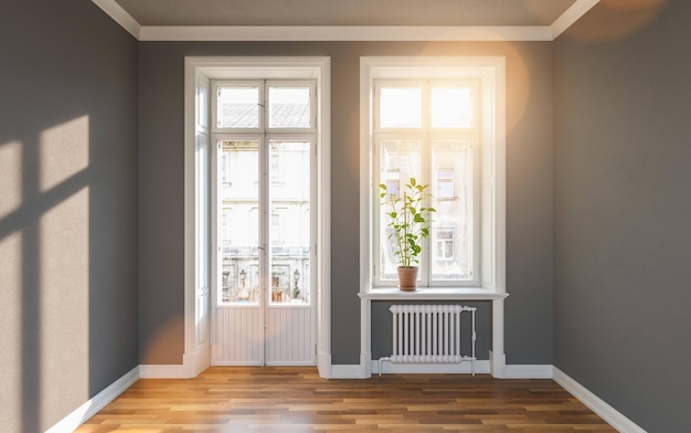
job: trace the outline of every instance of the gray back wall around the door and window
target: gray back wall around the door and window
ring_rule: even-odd
[[[141,42],[139,351],[182,362],[184,56],[331,57],[331,323],[334,365],[359,363],[359,64],[362,55],[504,55],[508,92],[507,359],[552,363],[552,44]],[[483,310],[488,314],[487,309]],[[389,314],[384,311],[384,314]],[[389,317],[389,316],[386,316]],[[485,316],[486,321],[491,321]],[[479,336],[489,347],[489,327]],[[376,336],[374,351],[391,346]],[[487,359],[487,350],[480,353]]]

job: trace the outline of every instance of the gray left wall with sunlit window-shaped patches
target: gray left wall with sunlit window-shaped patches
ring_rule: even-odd
[[[91,1],[0,9],[0,430],[31,433],[138,363],[137,42]]]

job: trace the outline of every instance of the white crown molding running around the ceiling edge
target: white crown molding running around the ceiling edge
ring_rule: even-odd
[[[550,27],[142,27],[115,0],[92,1],[139,41],[553,41],[599,0],[576,0]]]

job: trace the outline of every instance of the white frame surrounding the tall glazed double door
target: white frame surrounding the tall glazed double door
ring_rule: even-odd
[[[209,242],[199,242],[208,233],[210,221],[209,163],[200,161],[199,147],[210,139],[198,125],[209,118],[210,93],[201,88],[209,80],[249,78],[272,73],[286,77],[315,78],[318,93],[318,209],[317,209],[317,367],[323,378],[331,377],[331,286],[330,286],[330,57],[185,57],[184,60],[184,353],[183,376],[192,378],[211,363],[209,339],[210,303],[208,282],[211,278]],[[202,84],[200,84],[202,83]],[[206,83],[206,84],[203,84]],[[198,107],[201,112],[198,114]],[[202,119],[203,123],[203,119]],[[203,128],[202,128],[203,129]],[[200,134],[198,134],[200,133]],[[206,167],[206,169],[204,168]],[[206,171],[205,171],[206,170]],[[205,171],[205,172],[204,172]],[[206,234],[208,235],[208,234]]]

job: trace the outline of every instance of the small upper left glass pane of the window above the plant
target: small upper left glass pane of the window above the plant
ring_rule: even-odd
[[[380,91],[381,128],[421,128],[422,89],[382,87]]]

